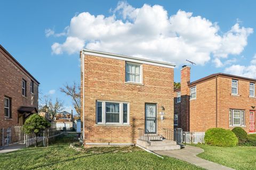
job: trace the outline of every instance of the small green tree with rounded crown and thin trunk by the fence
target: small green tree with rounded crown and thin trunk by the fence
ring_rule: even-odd
[[[37,147],[37,137],[38,133],[49,128],[51,123],[46,120],[46,118],[39,116],[38,114],[33,114],[27,118],[25,124],[23,125],[23,130],[27,134],[35,133],[36,135],[36,147]]]

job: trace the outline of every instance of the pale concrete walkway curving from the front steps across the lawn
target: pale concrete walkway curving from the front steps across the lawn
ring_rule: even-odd
[[[209,170],[231,170],[233,168],[229,168],[217,163],[210,162],[209,160],[205,160],[197,157],[197,154],[204,152],[202,148],[194,147],[194,146],[185,146],[185,148],[181,150],[163,150],[163,151],[154,151],[159,155],[166,155],[173,158],[185,160],[191,164],[203,167]],[[234,169],[233,169],[234,170]]]

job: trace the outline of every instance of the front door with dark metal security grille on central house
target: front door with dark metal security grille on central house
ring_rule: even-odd
[[[156,133],[156,104],[145,104],[145,133]]]

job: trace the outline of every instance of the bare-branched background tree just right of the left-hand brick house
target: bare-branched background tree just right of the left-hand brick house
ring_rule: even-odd
[[[41,105],[39,106],[39,112],[47,112],[52,120],[56,117],[57,113],[60,113],[63,109],[63,101],[56,98],[55,102],[53,102],[49,96],[44,96],[44,98],[41,99]]]

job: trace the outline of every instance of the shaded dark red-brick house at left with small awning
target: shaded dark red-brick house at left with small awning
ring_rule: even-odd
[[[0,128],[23,125],[38,109],[39,82],[0,45]]]

